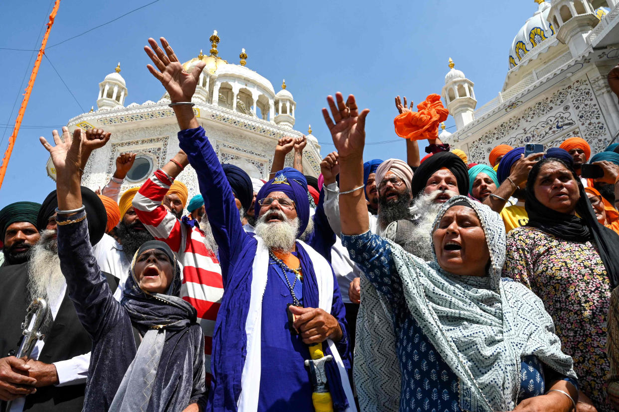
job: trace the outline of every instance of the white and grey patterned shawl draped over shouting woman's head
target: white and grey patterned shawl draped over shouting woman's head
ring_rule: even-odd
[[[451,275],[441,269],[436,257],[426,263],[395,243],[391,245],[392,258],[410,313],[459,377],[461,408],[513,410],[522,357],[535,355],[560,374],[575,378],[573,361],[561,352],[542,301],[524,285],[501,279],[506,242],[498,214],[465,196],[454,196],[439,211],[432,231],[459,202],[474,209],[482,224],[490,250],[487,276]],[[381,372],[379,381],[395,375],[400,379],[399,370]]]

